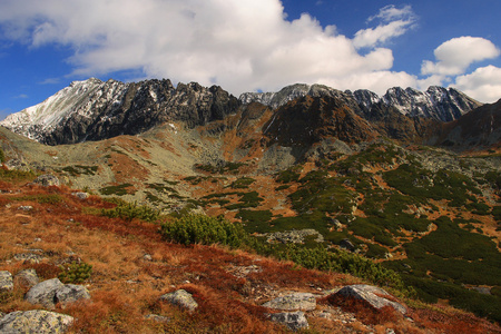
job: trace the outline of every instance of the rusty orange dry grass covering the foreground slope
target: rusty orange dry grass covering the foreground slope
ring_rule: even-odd
[[[57,277],[59,265],[79,261],[92,265],[85,283],[91,301],[58,312],[76,317],[72,333],[283,333],[283,326],[266,320],[261,305],[284,291],[321,292],[360,283],[350,275],[298,268],[291,262],[276,262],[242,250],[217,246],[168,244],[158,234],[158,225],[125,222],[87,214],[109,208],[97,196],[79,200],[66,187],[17,188],[0,184],[11,194],[0,195],[0,269],[16,274],[35,268],[41,279]],[[17,189],[20,193],[17,193]],[[53,203],[39,198],[57,195]],[[21,199],[20,199],[21,198]],[[22,198],[26,198],[22,199]],[[20,210],[30,205],[32,210]],[[35,249],[35,250],[33,250]],[[37,250],[38,249],[38,250]],[[35,253],[39,263],[16,261],[16,254]],[[147,255],[147,256],[146,256]],[[255,267],[236,275],[235,268]],[[167,292],[185,288],[199,304],[196,312],[184,312],[158,301]],[[36,308],[23,302],[26,288],[2,294],[0,311]],[[483,320],[452,311],[414,310],[414,322],[391,310],[374,313],[366,305],[341,305],[356,321],[343,324],[336,316],[308,317],[313,332],[384,333],[497,333],[499,327]],[[321,304],[318,307],[334,307]],[[146,320],[158,314],[168,324]],[[343,314],[344,314],[343,313]]]

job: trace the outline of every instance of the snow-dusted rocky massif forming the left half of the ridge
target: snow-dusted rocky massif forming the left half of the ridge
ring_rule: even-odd
[[[0,125],[37,141],[58,145],[136,135],[165,121],[188,127],[222,119],[239,106],[220,87],[146,80],[72,82],[43,102],[10,115]]]

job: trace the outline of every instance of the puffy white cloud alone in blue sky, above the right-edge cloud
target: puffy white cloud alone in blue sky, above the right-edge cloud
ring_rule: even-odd
[[[436,62],[423,61],[421,73],[458,76],[464,73],[473,62],[493,59],[499,55],[500,50],[490,40],[471,36],[458,37],[438,47],[434,50]]]

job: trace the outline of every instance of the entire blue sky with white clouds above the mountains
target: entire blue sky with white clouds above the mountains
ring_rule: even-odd
[[[0,0],[0,119],[73,80],[501,98],[500,0]]]

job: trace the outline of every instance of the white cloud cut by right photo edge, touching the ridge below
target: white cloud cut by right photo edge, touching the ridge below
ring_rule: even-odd
[[[501,98],[501,68],[478,68],[470,75],[456,77],[451,86],[481,102],[495,102]]]

